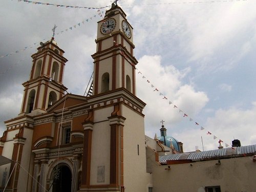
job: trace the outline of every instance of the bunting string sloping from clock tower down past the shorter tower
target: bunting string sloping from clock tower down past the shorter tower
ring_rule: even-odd
[[[102,15],[103,12],[104,12],[104,11],[98,10],[98,11],[97,11],[97,14],[95,14],[94,16],[89,17],[89,18],[87,18],[87,19],[84,19],[84,20],[82,20],[82,22],[80,22],[80,23],[78,23],[78,24],[76,24],[76,25],[73,25],[73,26],[71,26],[71,27],[69,27],[69,28],[67,28],[67,29],[65,29],[65,30],[62,30],[62,31],[60,31],[60,32],[58,32],[58,33],[56,33],[56,35],[62,34],[63,32],[71,31],[71,30],[73,30],[73,29],[76,28],[76,27],[81,27],[81,24],[84,25],[84,23],[88,23],[88,22],[89,22],[90,20],[92,20],[93,18],[96,18],[97,15],[100,16],[100,17],[102,17],[102,16],[103,16],[103,15]],[[46,40],[46,38],[44,38],[44,39],[42,39],[42,40],[44,41],[44,40]],[[10,56],[10,55],[19,53],[19,52],[26,51],[27,49],[31,49],[31,48],[33,48],[34,46],[39,46],[39,42],[34,42],[33,45],[26,46],[26,47],[23,48],[23,49],[20,49],[20,50],[17,50],[17,51],[8,53],[8,54],[6,54],[6,55],[2,55],[2,56],[0,56],[0,58],[7,57],[7,56]]]

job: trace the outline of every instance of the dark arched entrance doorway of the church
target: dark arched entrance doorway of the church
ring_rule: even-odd
[[[66,165],[59,165],[55,169],[52,192],[71,192],[72,174]]]

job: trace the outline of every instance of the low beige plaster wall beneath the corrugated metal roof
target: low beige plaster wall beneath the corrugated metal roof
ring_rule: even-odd
[[[155,192],[198,191],[205,186],[221,186],[221,191],[255,191],[256,163],[250,157],[201,161],[186,164],[154,166],[153,178]],[[191,165],[193,166],[191,166]]]

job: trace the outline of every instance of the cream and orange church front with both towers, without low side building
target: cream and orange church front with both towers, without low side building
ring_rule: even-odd
[[[152,185],[145,164],[145,103],[136,97],[133,28],[125,17],[113,4],[98,22],[89,97],[67,93],[62,80],[68,60],[54,38],[32,55],[20,114],[5,121],[1,138],[1,155],[13,160],[2,166],[11,174],[9,181],[2,178],[2,188],[146,191]]]

